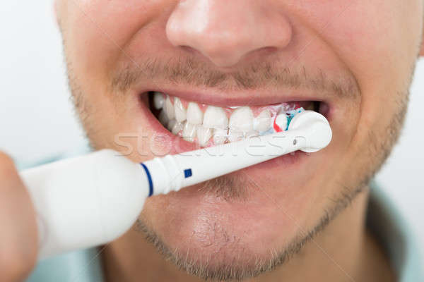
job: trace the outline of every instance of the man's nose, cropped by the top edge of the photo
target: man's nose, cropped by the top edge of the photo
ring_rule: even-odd
[[[274,2],[179,1],[167,20],[167,39],[175,47],[199,51],[216,66],[234,66],[255,51],[277,51],[290,44],[292,27]]]

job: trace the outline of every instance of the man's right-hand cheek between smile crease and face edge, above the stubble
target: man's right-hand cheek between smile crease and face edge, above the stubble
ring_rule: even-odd
[[[399,93],[407,91],[420,43],[422,8],[422,1],[355,1],[329,25],[329,42],[362,92],[362,129],[374,123],[381,128],[381,121],[391,120]]]

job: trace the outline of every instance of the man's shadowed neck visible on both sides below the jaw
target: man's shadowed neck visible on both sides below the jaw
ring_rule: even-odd
[[[252,281],[394,281],[387,259],[365,229],[367,192],[275,271]],[[158,254],[143,233],[129,231],[103,254],[106,281],[200,281]]]

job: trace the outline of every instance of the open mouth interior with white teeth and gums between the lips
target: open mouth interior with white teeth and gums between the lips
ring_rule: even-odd
[[[287,130],[291,118],[301,111],[317,111],[326,118],[329,114],[329,105],[317,100],[217,106],[164,92],[146,94],[148,107],[163,128],[197,147],[211,147]]]

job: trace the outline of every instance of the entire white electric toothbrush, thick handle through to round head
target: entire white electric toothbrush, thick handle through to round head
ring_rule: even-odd
[[[105,149],[22,171],[37,212],[39,259],[118,238],[136,221],[149,195],[179,190],[298,149],[316,152],[330,140],[328,121],[305,111],[283,133],[142,164]]]

